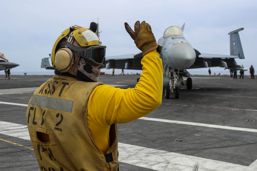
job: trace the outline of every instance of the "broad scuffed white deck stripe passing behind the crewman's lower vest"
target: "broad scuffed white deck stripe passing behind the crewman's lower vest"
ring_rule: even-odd
[[[27,125],[0,121],[0,134],[30,140]],[[172,153],[164,150],[118,143],[119,162],[158,171],[191,171],[195,165],[199,170],[247,171],[257,168],[257,160],[250,166]]]

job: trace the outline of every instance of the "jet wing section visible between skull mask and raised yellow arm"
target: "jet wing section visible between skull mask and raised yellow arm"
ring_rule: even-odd
[[[110,69],[135,69],[142,70],[143,65],[141,59],[143,58],[142,52],[139,54],[108,56],[105,58],[105,65],[103,68]]]

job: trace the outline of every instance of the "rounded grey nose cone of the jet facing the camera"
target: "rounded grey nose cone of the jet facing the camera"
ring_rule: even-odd
[[[189,43],[176,43],[171,46],[169,51],[173,68],[181,70],[190,67],[195,62],[196,53]]]

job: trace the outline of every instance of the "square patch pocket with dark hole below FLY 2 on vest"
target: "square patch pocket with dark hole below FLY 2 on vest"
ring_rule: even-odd
[[[55,138],[52,131],[44,128],[32,127],[32,142],[42,146],[55,146]]]

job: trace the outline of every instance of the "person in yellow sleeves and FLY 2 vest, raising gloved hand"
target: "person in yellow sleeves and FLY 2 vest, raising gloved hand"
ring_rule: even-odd
[[[161,104],[163,68],[151,26],[126,31],[142,51],[140,81],[121,89],[98,81],[105,48],[90,29],[74,25],[52,49],[55,75],[33,94],[26,119],[41,170],[118,170],[117,124],[145,116]]]

